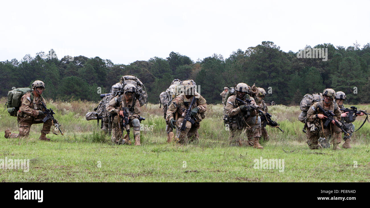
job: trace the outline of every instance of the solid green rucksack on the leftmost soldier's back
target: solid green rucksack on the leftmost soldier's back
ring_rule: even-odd
[[[8,100],[5,103],[8,113],[11,116],[17,116],[19,107],[21,106],[21,98],[24,94],[31,92],[30,88],[16,88],[8,92]],[[31,100],[33,100],[33,94],[31,93]]]

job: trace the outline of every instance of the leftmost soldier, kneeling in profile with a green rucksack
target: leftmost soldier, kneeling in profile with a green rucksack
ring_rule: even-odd
[[[50,141],[49,138],[46,138],[46,134],[50,132],[52,125],[51,119],[47,120],[45,123],[43,119],[45,114],[41,108],[41,102],[44,102],[46,105],[45,99],[41,96],[45,90],[45,84],[36,80],[32,83],[32,91],[24,94],[21,97],[21,106],[18,111],[17,120],[19,124],[19,134],[11,133],[8,129],[5,130],[5,138],[17,138],[27,137],[30,134],[30,128],[32,124],[41,124],[43,123],[43,129],[41,130],[40,140]],[[33,95],[33,100],[31,100],[31,93]]]

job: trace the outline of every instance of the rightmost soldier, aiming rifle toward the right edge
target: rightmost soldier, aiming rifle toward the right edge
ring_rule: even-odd
[[[347,100],[347,97],[346,97],[346,94],[343,93],[342,91],[339,91],[335,94],[335,101],[337,102],[338,106],[340,109],[344,109],[344,101]],[[350,149],[352,148],[351,147],[351,136],[352,136],[352,133],[354,131],[354,125],[352,124],[352,122],[354,120],[356,120],[356,117],[357,115],[364,115],[364,113],[361,112],[361,114],[354,114],[353,115],[353,119],[352,120],[349,120],[349,116],[347,115],[348,112],[346,113],[343,113],[343,111],[341,111],[342,114],[341,114],[341,120],[340,122],[346,127],[345,130],[349,133],[349,135],[344,135],[343,137],[343,140],[344,140],[344,144],[342,145],[343,148],[346,148],[346,149]]]

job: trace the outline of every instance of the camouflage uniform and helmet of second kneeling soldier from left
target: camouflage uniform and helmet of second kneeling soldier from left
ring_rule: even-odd
[[[131,84],[127,84],[125,87],[127,87],[128,85]],[[128,108],[129,127],[133,127],[134,129],[135,145],[140,145],[140,122],[138,119],[141,113],[140,104],[138,100],[135,100],[134,103],[134,98],[128,103],[126,101],[125,95],[117,95],[107,105],[107,112],[111,113],[113,117],[112,142],[119,143],[120,141],[122,141],[122,144],[128,142],[128,140],[126,140],[126,136],[125,138],[122,138],[122,132],[118,124],[119,113],[120,110],[123,110],[123,108]]]

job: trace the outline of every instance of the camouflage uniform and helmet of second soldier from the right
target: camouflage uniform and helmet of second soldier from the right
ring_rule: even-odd
[[[333,89],[326,89],[324,90],[323,94],[325,94],[325,91],[327,90],[332,90],[334,92],[333,97],[335,96],[335,91]],[[322,123],[324,122],[324,120],[316,118],[316,114],[323,113],[318,108],[318,105],[320,105],[326,111],[328,110],[333,111],[333,113],[336,115],[334,118],[337,119],[338,121],[341,120],[340,114],[342,114],[342,112],[340,111],[339,106],[337,106],[337,104],[334,104],[333,101],[330,102],[330,106],[328,108],[324,107],[324,99],[322,99],[319,102],[313,103],[312,106],[307,111],[307,123],[306,123],[307,144],[309,145],[310,149],[317,149],[319,148],[318,142],[320,135],[327,138],[327,141],[330,141],[332,135],[335,134],[332,142],[333,149],[336,150],[338,149],[337,146],[342,138],[342,130],[332,123],[329,124],[330,126],[328,126],[328,128],[322,129]]]

